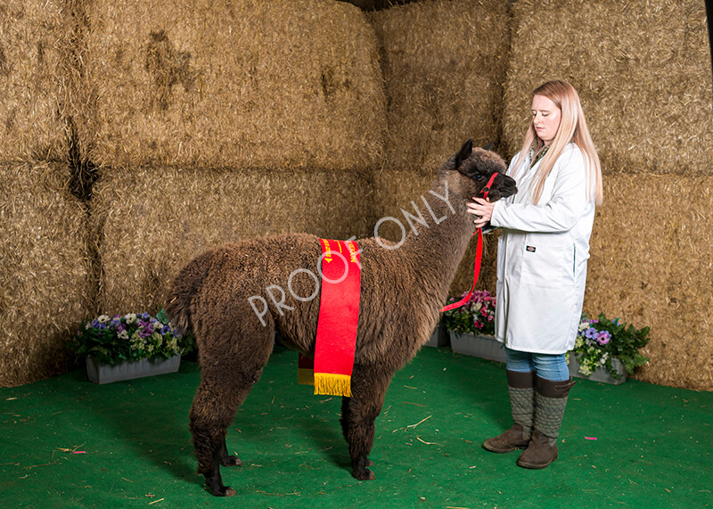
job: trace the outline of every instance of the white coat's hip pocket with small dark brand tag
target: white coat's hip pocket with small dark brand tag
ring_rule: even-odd
[[[574,244],[526,242],[521,257],[520,283],[539,288],[563,288],[574,284]]]

